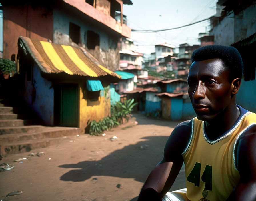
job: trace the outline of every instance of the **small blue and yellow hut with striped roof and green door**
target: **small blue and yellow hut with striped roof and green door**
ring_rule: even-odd
[[[21,87],[25,103],[47,126],[88,130],[88,120],[110,114],[109,84],[119,76],[80,48],[19,37]],[[89,53],[87,53],[89,54]]]

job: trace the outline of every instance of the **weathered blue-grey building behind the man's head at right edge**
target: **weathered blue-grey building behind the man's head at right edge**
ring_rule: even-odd
[[[254,52],[256,48],[256,1],[219,0],[217,14],[211,17],[214,44],[231,45],[240,52],[244,71],[237,104],[256,112],[256,80]]]

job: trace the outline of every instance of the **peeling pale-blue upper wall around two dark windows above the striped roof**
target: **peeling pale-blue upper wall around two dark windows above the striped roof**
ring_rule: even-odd
[[[64,13],[61,10],[53,11],[53,43],[72,45],[69,40],[69,22],[80,26],[81,46],[86,48],[87,31],[91,30],[100,37],[100,44],[94,50],[87,49],[103,66],[116,71],[119,69],[120,40],[113,37],[111,33],[103,31],[103,27],[94,27],[86,23],[83,19],[73,17],[71,13]]]

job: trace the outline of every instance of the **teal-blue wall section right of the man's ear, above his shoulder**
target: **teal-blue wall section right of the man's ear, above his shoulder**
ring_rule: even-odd
[[[244,81],[236,95],[236,102],[241,107],[251,111],[256,112],[256,79],[250,81]]]

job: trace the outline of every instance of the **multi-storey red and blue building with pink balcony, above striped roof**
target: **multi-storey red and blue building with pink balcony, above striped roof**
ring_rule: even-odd
[[[123,23],[130,0],[53,0],[3,3],[3,58],[17,55],[20,35],[55,44],[81,46],[101,65],[119,69],[120,38],[130,37]],[[115,19],[119,11],[121,20]]]

